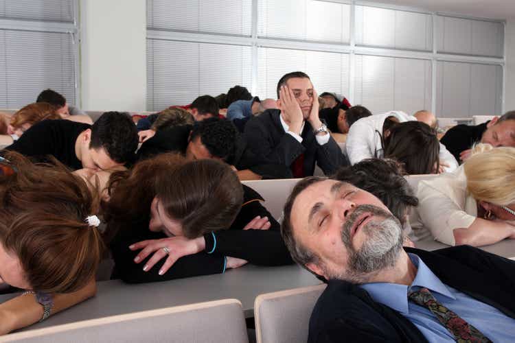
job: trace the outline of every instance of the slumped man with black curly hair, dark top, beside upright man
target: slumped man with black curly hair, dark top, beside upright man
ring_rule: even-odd
[[[159,130],[141,145],[138,159],[163,152],[179,152],[189,160],[216,158],[232,165],[240,180],[287,178],[288,169],[258,158],[248,148],[238,130],[227,119],[208,118],[193,126]]]

